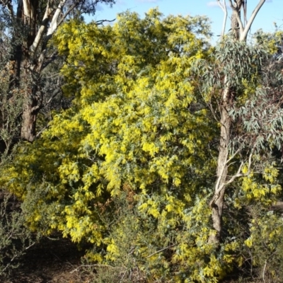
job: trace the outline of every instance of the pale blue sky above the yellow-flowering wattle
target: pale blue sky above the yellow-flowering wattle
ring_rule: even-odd
[[[253,12],[253,9],[258,4],[259,0],[248,1],[248,16]],[[196,16],[206,15],[212,21],[212,32],[216,40],[221,33],[221,25],[223,21],[223,12],[217,5],[216,1],[212,0],[117,0],[116,4],[110,8],[106,5],[100,5],[94,20],[108,19],[112,20],[116,17],[117,13],[126,11],[136,11],[139,15],[143,16],[149,8],[158,6],[159,10],[167,16],[168,14],[178,15],[182,14]],[[229,6],[227,1],[227,6]],[[231,10],[229,9],[231,13]],[[255,22],[253,23],[251,32],[255,32],[259,28],[267,32],[275,30],[274,22],[278,26],[282,25],[283,29],[283,0],[266,0],[263,4],[260,13],[258,13]],[[227,23],[227,26],[229,22]]]

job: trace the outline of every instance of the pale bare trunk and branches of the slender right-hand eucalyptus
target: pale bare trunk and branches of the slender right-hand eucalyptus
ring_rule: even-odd
[[[233,37],[235,40],[246,41],[248,31],[255,19],[255,16],[260,11],[260,8],[265,3],[265,0],[260,0],[258,6],[256,6],[252,15],[250,16],[249,21],[244,25],[241,21],[241,8],[243,6],[244,0],[236,0],[232,3],[232,0],[229,0],[229,4],[232,8],[232,17],[231,17],[231,28],[233,30]],[[219,2],[220,4],[220,2]],[[221,5],[220,5],[221,6]],[[225,15],[225,11],[224,11]],[[226,16],[226,15],[225,15]],[[226,21],[225,21],[226,23]],[[225,27],[222,28],[225,30]],[[231,178],[228,176],[228,167],[231,158],[229,159],[229,141],[231,129],[233,127],[231,123],[231,117],[229,116],[229,110],[234,103],[233,94],[227,77],[224,79],[223,91],[221,94],[221,105],[220,105],[220,143],[219,143],[219,156],[217,160],[217,171],[216,171],[216,185],[214,187],[214,196],[209,202],[209,205],[212,209],[212,226],[214,233],[209,237],[209,243],[219,244],[221,241],[221,231],[222,231],[222,214],[224,207],[224,197],[225,190],[227,185],[233,182],[236,178],[243,177],[241,173],[241,166],[238,168],[238,172],[234,174]],[[250,165],[252,160],[253,150],[251,151],[250,158],[248,160],[248,172],[250,171]]]

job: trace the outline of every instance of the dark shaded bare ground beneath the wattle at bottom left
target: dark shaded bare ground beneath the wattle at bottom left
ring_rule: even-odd
[[[68,239],[45,239],[27,250],[21,267],[13,270],[2,283],[81,283],[90,282],[76,270],[81,265],[83,251]],[[80,270],[81,271],[81,270]]]

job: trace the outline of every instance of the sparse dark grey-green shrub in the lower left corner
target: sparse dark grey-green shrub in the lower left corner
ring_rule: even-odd
[[[25,227],[25,217],[19,207],[13,207],[17,202],[9,195],[1,193],[0,200],[0,277],[17,268],[18,259],[35,240]],[[2,198],[3,197],[3,198]]]

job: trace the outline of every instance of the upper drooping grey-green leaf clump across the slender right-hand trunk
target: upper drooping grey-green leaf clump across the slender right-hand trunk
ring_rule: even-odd
[[[197,59],[194,70],[202,81],[201,91],[224,89],[226,86],[241,91],[243,81],[255,83],[262,62],[267,57],[265,49],[224,37],[213,50],[210,59]],[[224,80],[225,78],[225,80]]]

